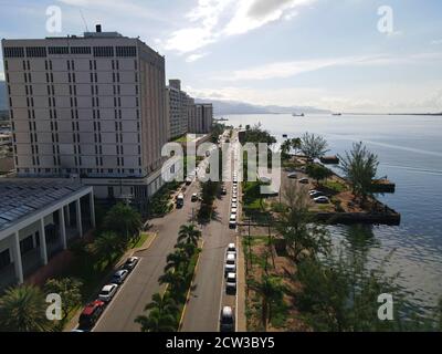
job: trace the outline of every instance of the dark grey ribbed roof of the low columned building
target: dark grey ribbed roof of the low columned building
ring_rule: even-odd
[[[0,178],[0,231],[83,188],[72,179]]]

